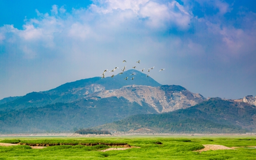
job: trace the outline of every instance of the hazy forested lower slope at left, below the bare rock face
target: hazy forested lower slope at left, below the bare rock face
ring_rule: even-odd
[[[67,132],[88,128],[130,115],[157,113],[146,103],[125,98],[82,99],[73,103],[55,103],[0,113],[0,133]]]

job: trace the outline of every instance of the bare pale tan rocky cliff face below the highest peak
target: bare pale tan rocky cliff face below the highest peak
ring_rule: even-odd
[[[145,102],[158,113],[184,109],[205,100],[202,95],[191,93],[186,88],[176,85],[163,85],[161,87],[128,85],[118,90],[102,90],[85,98],[93,97],[124,97],[128,101],[137,102],[140,105]]]

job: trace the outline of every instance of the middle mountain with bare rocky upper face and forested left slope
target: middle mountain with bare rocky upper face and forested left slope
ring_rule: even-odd
[[[34,104],[38,99],[51,99],[54,96],[49,93],[29,93],[20,98],[20,101],[29,104],[31,95],[37,95],[33,99]],[[74,127],[87,128],[111,123],[131,115],[157,114],[187,108],[202,101],[203,96],[191,93],[181,86],[128,85],[116,90],[84,95],[70,103],[2,111],[0,132],[64,132]],[[41,101],[39,103],[42,104]]]

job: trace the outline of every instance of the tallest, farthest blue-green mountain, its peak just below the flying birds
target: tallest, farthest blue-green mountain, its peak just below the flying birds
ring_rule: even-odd
[[[131,77],[130,74],[135,74],[134,80],[124,80],[125,77]],[[117,74],[113,78],[94,77],[89,79],[81,79],[70,83],[63,84],[52,90],[43,92],[32,92],[22,97],[18,97],[13,101],[6,101],[0,104],[0,110],[25,109],[29,107],[43,107],[47,104],[69,103],[78,101],[91,93],[101,90],[119,89],[126,85],[146,85],[152,87],[161,86],[151,77],[147,77],[144,73],[137,70],[127,70],[123,74]],[[10,99],[10,98],[9,98]]]

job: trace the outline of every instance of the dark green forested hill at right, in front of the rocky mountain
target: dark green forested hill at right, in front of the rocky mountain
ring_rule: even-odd
[[[210,98],[186,109],[163,114],[134,115],[95,128],[125,132],[256,132],[256,107],[243,102]]]

